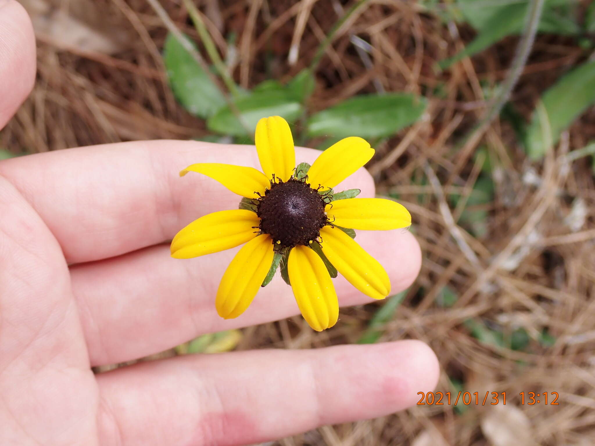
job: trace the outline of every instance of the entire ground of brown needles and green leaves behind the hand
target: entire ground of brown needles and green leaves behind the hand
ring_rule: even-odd
[[[250,144],[259,118],[281,115],[299,145],[368,139],[378,193],[413,215],[424,263],[409,290],[320,334],[298,317],[143,360],[418,338],[439,356],[437,390],[507,392],[506,406],[426,404],[273,444],[593,444],[595,2],[22,2],[37,85],[0,159]],[[523,406],[522,391],[559,392],[559,406]]]

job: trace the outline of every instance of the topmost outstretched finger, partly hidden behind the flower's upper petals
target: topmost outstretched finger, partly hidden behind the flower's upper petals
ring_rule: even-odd
[[[296,147],[297,162],[317,155]],[[171,240],[202,215],[237,209],[241,197],[211,178],[179,177],[196,162],[260,167],[253,146],[159,140],[12,158],[0,162],[0,175],[39,213],[68,263],[81,263]],[[374,194],[364,169],[344,183],[362,189],[362,196]]]

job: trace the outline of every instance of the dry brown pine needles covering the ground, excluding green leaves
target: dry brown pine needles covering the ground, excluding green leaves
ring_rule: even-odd
[[[24,3],[39,8],[44,2]],[[0,134],[0,145],[15,152],[43,152],[207,133],[203,121],[187,114],[168,87],[160,56],[167,30],[145,0],[54,3],[58,9],[52,14],[76,18],[107,40],[85,36],[84,30],[73,39],[37,23],[36,87]],[[161,3],[177,26],[198,41],[180,2]],[[267,78],[286,81],[306,67],[339,18],[337,5],[348,2],[205,3],[209,30],[223,56],[231,51],[224,36],[236,33],[233,75],[250,87]],[[355,51],[350,34],[371,43],[371,67]],[[508,37],[444,73],[434,70],[437,61],[454,54],[473,35],[466,26],[441,23],[415,2],[371,0],[337,33],[322,59],[309,109],[317,111],[378,88],[430,98],[422,120],[377,146],[369,165],[379,193],[398,194],[411,211],[412,231],[424,251],[421,274],[381,340],[417,338],[429,343],[441,363],[437,390],[455,391],[450,381],[455,379],[480,395],[486,390],[507,392],[507,404],[464,410],[447,404],[417,406],[274,444],[594,442],[595,184],[590,157],[569,161],[565,155],[595,139],[595,110],[577,120],[543,162],[531,164],[525,158],[510,121],[496,119],[478,144],[461,146],[461,138],[486,113],[484,95],[506,76],[518,42]],[[295,64],[287,60],[292,42]],[[568,37],[538,36],[512,95],[519,119],[527,120],[543,90],[584,54]],[[483,234],[473,236],[456,222],[486,155],[495,194],[491,202],[475,205],[487,216]],[[461,193],[456,205],[450,200],[453,191]],[[452,306],[440,304],[445,286],[457,297]],[[382,304],[343,310],[340,323],[320,334],[300,331],[305,325],[293,321],[246,328],[238,348],[353,343]],[[490,333],[502,333],[505,341],[524,328],[530,340],[523,350],[482,341],[466,325],[468,319],[493,330]],[[544,330],[553,345],[540,342]],[[521,391],[556,391],[559,406],[521,406]]]

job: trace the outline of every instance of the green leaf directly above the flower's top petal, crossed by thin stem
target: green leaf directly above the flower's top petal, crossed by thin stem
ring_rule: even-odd
[[[236,106],[242,115],[248,130],[254,131],[256,123],[262,117],[278,115],[292,122],[302,115],[303,106],[287,90],[265,90],[254,92],[236,100]],[[228,106],[221,108],[206,121],[209,130],[218,133],[242,136],[248,134],[240,121]]]

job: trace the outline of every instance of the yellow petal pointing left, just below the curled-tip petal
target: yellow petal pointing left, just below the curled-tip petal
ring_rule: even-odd
[[[193,221],[171,241],[171,256],[190,259],[238,246],[256,237],[260,219],[252,211],[236,209],[209,213]]]

